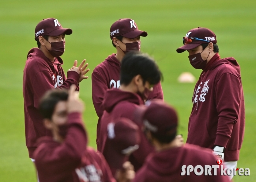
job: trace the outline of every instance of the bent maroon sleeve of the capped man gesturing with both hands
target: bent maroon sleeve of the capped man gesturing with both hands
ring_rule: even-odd
[[[70,73],[69,73],[70,72]],[[54,84],[52,75],[49,71],[40,71],[35,75],[34,81],[32,83],[32,89],[34,93],[34,106],[39,109],[39,102],[41,97],[48,90],[58,88],[58,89],[69,89],[72,84],[78,86],[77,80],[79,79],[79,74],[75,71],[68,71],[68,78],[63,82],[63,85],[57,87],[57,83]],[[79,89],[79,87],[78,87]]]

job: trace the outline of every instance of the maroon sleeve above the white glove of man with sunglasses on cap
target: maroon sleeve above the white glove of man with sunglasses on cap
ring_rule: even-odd
[[[218,126],[215,145],[226,147],[234,124],[237,123],[241,97],[241,80],[236,75],[224,73],[215,86]]]

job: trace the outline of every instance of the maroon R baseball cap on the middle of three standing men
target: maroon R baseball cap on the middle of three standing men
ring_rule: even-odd
[[[110,39],[122,35],[123,37],[134,39],[137,36],[147,36],[147,32],[139,30],[134,20],[129,18],[119,19],[110,27]]]

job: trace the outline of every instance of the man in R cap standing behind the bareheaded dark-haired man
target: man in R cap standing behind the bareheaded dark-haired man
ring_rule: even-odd
[[[93,104],[99,120],[104,111],[102,104],[104,93],[108,89],[120,88],[121,61],[127,52],[140,50],[140,36],[147,36],[147,32],[139,30],[134,20],[129,18],[119,19],[110,27],[110,39],[116,48],[116,54],[109,55],[105,61],[95,67],[91,75]],[[163,99],[160,82],[154,86],[151,94],[146,95],[147,100]]]

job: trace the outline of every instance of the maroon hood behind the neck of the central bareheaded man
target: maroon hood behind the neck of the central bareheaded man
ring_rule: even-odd
[[[107,90],[103,100],[103,107],[107,112],[111,112],[121,101],[128,101],[134,104],[143,104],[142,98],[136,93],[125,92],[120,89]]]

